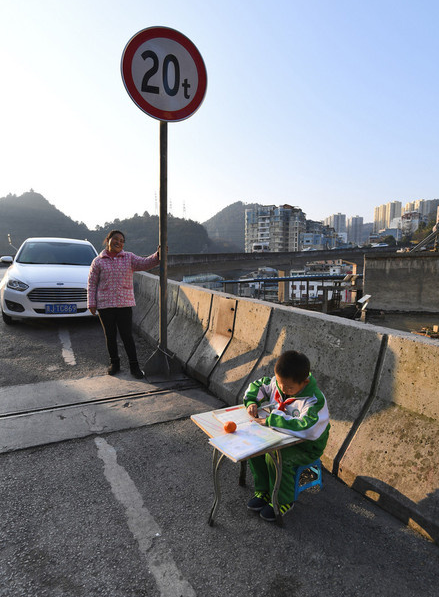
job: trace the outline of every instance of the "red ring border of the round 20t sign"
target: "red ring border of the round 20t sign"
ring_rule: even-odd
[[[174,112],[170,112],[167,110],[160,110],[152,106],[148,103],[145,98],[141,95],[141,93],[137,90],[134,79],[131,74],[131,65],[133,62],[134,54],[146,41],[150,39],[155,39],[158,37],[164,37],[165,39],[172,39],[176,41],[180,45],[182,45],[185,50],[189,52],[192,57],[192,60],[195,62],[195,66],[197,68],[198,73],[198,87],[197,91],[189,102],[189,104],[182,108],[181,110],[176,110]],[[203,102],[204,96],[206,94],[207,89],[207,72],[206,66],[204,64],[203,58],[201,57],[200,52],[196,48],[196,46],[188,39],[185,35],[176,31],[175,29],[171,29],[170,27],[148,27],[147,29],[142,29],[138,31],[133,37],[129,40],[125,49],[122,54],[121,60],[121,73],[122,79],[125,85],[125,89],[128,92],[128,95],[131,97],[133,102],[136,104],[138,108],[140,108],[143,112],[156,118],[157,120],[163,120],[166,122],[178,122],[180,120],[185,120],[192,116],[196,110],[201,106]]]

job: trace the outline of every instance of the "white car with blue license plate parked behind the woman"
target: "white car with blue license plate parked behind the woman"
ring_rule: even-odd
[[[0,282],[3,321],[13,318],[84,317],[87,279],[97,251],[86,240],[28,238]]]

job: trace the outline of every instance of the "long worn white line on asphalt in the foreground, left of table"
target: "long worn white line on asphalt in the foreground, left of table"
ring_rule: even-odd
[[[98,457],[104,462],[104,475],[111,490],[125,507],[128,527],[147,558],[148,567],[162,597],[196,597],[192,586],[180,573],[169,549],[161,539],[161,530],[126,470],[117,463],[116,450],[102,437],[95,438]]]

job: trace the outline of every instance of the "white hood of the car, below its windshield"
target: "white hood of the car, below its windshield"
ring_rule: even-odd
[[[42,284],[87,284],[89,265],[33,265],[14,263],[7,271],[14,278],[33,286]]]

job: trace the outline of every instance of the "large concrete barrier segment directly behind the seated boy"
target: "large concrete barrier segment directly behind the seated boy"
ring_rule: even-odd
[[[330,407],[332,429],[322,457],[329,470],[368,400],[383,336],[381,328],[331,315],[273,309],[266,347],[252,377],[274,375],[274,364],[285,350],[307,355]]]

